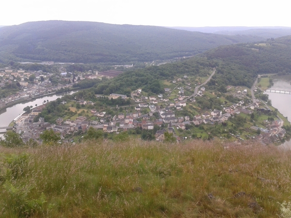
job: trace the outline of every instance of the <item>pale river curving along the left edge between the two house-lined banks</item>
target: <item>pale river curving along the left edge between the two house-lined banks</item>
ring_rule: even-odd
[[[54,101],[57,98],[64,96],[65,94],[73,94],[76,92],[78,91],[47,95],[47,96],[43,96],[43,97],[36,98],[33,100],[20,102],[16,105],[9,106],[8,108],[5,108],[5,109],[1,109],[0,110],[0,126],[8,126],[20,113],[24,112],[23,109],[26,106],[35,107],[35,104],[42,105],[44,100]],[[3,133],[0,133],[0,137],[2,136],[3,136]]]

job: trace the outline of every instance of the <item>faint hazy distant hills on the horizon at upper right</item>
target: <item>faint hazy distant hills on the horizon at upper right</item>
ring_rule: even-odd
[[[291,35],[291,27],[169,27],[223,35],[253,35],[264,39]]]

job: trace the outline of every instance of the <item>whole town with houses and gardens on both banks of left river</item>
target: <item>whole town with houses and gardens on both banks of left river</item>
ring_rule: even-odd
[[[27,79],[33,76],[33,84]],[[42,72],[11,71],[2,69],[0,75],[3,82],[11,79],[20,79],[23,91],[1,99],[0,106],[6,106],[23,99],[31,99],[41,94],[53,93],[58,90],[72,88],[80,80],[114,78],[122,71],[109,70],[105,72],[89,72],[85,75],[60,74],[65,84],[52,85],[49,74]],[[215,69],[212,72],[214,75]],[[228,140],[260,140],[265,144],[280,142],[286,130],[282,128],[283,121],[276,116],[265,104],[258,99],[252,99],[250,91],[244,87],[225,87],[226,95],[215,95],[208,92],[207,82],[192,81],[188,76],[176,78],[165,82],[164,93],[148,96],[143,89],[137,89],[125,94],[111,93],[109,96],[96,94],[96,101],[85,99],[58,100],[67,111],[63,117],[58,117],[54,122],[46,122],[44,117],[39,117],[48,102],[27,111],[15,120],[15,131],[21,135],[22,140],[30,139],[39,141],[39,136],[45,130],[52,129],[60,133],[64,141],[75,142],[92,127],[108,134],[119,134],[127,131],[129,134],[141,135],[142,131],[152,134],[152,139],[164,140],[165,133],[173,134],[175,140],[200,138],[210,140],[214,137]],[[77,78],[77,79],[76,79]],[[69,80],[71,82],[68,82]],[[74,81],[73,81],[74,80]],[[183,82],[183,83],[181,83]],[[3,84],[3,83],[2,83]],[[257,92],[256,86],[253,92]],[[123,106],[116,105],[110,108],[97,107],[98,98],[127,100]],[[229,99],[229,100],[227,100]],[[234,100],[235,99],[235,100]],[[236,103],[233,103],[235,102]],[[207,104],[217,104],[216,108],[208,109]],[[108,112],[110,111],[110,112]],[[256,117],[255,118],[255,115]],[[255,122],[258,120],[259,122]],[[263,119],[265,118],[265,119]],[[241,120],[239,120],[241,119]],[[246,120],[249,120],[247,122]],[[239,124],[240,123],[240,124]],[[243,124],[245,123],[245,125]],[[238,125],[239,124],[239,125]]]

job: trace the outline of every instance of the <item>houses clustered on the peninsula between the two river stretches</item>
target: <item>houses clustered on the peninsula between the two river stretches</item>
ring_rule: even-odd
[[[171,89],[165,88],[165,93],[170,92]],[[245,97],[246,92],[246,90],[242,90],[242,92],[236,91],[235,93],[243,98]],[[183,87],[178,87],[179,96],[174,98],[174,101],[170,101],[168,98],[163,98],[163,96],[167,96],[167,94],[145,96],[143,95],[142,89],[138,89],[132,92],[132,95],[134,96],[132,100],[138,104],[125,107],[125,112],[118,112],[118,109],[120,110],[120,108],[117,108],[115,114],[107,114],[106,110],[97,111],[97,109],[94,108],[86,109],[86,107],[88,108],[89,106],[89,108],[92,108],[92,106],[95,105],[95,102],[76,100],[76,103],[81,105],[81,109],[87,110],[86,116],[78,116],[78,112],[75,111],[77,113],[75,119],[64,119],[59,117],[55,120],[54,124],[51,124],[45,122],[43,118],[39,118],[38,122],[33,123],[34,117],[41,112],[43,107],[45,107],[45,105],[43,105],[32,109],[29,114],[20,116],[16,120],[16,132],[21,134],[24,141],[27,141],[31,138],[39,140],[39,135],[44,130],[52,129],[54,132],[60,133],[63,140],[74,141],[74,135],[85,133],[89,127],[100,129],[104,133],[118,134],[136,128],[152,131],[154,126],[159,126],[159,130],[156,130],[154,134],[156,140],[164,140],[164,133],[168,132],[173,134],[179,142],[193,137],[193,135],[184,134],[183,132],[187,129],[190,131],[189,128],[194,127],[199,129],[200,125],[215,126],[215,128],[216,125],[224,126],[227,125],[227,121],[239,114],[250,116],[254,111],[260,109],[258,101],[246,105],[244,100],[241,100],[229,107],[224,107],[222,110],[205,110],[194,116],[181,116],[179,115],[180,112],[185,111],[187,106],[195,104],[195,99],[197,97],[202,97],[207,93],[207,91],[205,87],[202,86],[197,94],[191,96],[187,101],[185,101],[185,99],[189,96],[185,96],[183,93]],[[112,93],[109,98],[127,99],[128,97],[123,94]],[[61,104],[67,104],[69,106],[71,103],[62,101]],[[164,105],[166,107],[162,107]],[[88,115],[89,113],[90,115]],[[281,127],[282,123],[280,119],[275,119],[273,121],[266,120],[265,127],[255,125],[250,126],[250,132],[253,132],[253,134],[248,135],[249,137],[247,137],[247,139],[261,140],[266,144],[274,141],[279,142],[286,133],[286,130]],[[258,132],[259,134],[257,134]],[[213,138],[213,134],[210,132],[207,134]],[[245,136],[247,135],[245,134]],[[242,137],[240,133],[232,131],[232,126],[228,126],[225,134],[220,134],[220,138],[233,138],[235,140],[246,139],[245,137]]]

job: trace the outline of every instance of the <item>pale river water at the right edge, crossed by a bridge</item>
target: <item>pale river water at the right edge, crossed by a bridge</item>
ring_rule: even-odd
[[[274,85],[272,89],[291,91],[291,75],[289,76],[277,76],[273,78]],[[288,118],[291,122],[291,94],[280,94],[280,93],[266,93],[269,95],[269,99],[272,100],[272,106],[275,107],[283,114],[284,117]],[[291,140],[284,142],[280,147],[291,149]]]

